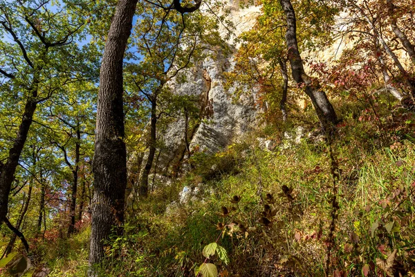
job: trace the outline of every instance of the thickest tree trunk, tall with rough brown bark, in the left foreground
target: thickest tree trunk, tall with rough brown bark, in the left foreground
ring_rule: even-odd
[[[127,154],[124,143],[122,62],[137,1],[118,1],[102,57],[93,159],[89,276],[97,276],[93,265],[104,258],[104,240],[109,239],[114,226],[121,232],[120,226],[124,222]]]

